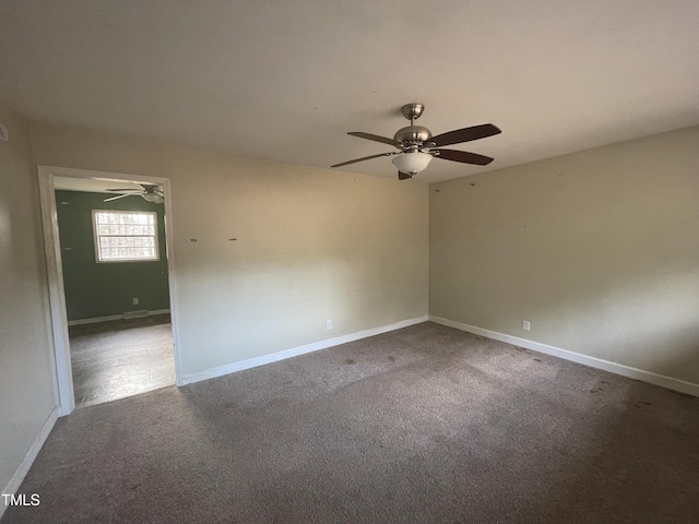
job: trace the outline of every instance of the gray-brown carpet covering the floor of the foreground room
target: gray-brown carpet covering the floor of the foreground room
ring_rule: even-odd
[[[699,398],[434,323],[58,421],[9,523],[699,522]]]

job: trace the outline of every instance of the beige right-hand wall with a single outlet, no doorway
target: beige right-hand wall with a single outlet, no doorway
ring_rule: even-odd
[[[699,383],[699,128],[430,186],[429,272],[433,315]]]

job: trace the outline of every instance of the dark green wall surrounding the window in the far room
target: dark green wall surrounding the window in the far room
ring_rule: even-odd
[[[169,308],[165,206],[141,196],[104,202],[105,193],[56,191],[68,320]],[[96,263],[92,210],[157,213],[158,261]],[[134,306],[132,299],[138,298]]]

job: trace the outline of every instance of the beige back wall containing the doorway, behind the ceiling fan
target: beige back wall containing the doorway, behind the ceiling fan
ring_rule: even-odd
[[[426,184],[63,127],[32,138],[39,165],[171,179],[185,374],[427,314]]]

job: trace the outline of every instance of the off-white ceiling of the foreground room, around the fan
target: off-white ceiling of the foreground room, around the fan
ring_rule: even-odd
[[[0,98],[36,120],[328,167],[493,122],[427,181],[699,124],[697,0],[0,2]],[[459,147],[459,146],[457,146]],[[389,158],[348,166],[395,176]]]

